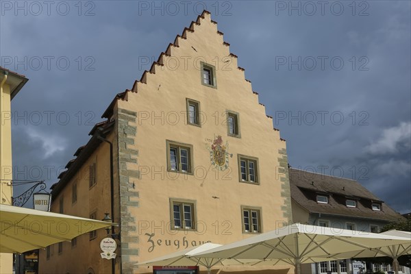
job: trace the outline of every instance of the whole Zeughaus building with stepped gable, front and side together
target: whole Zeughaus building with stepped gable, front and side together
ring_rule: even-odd
[[[107,120],[92,129],[53,186],[54,212],[114,215],[116,273],[150,273],[151,267],[134,264],[292,222],[286,142],[244,71],[203,12],[131,90],[116,95],[103,114]],[[114,212],[110,146],[102,138],[113,144]],[[100,258],[105,236],[101,230],[40,251],[40,273],[111,273],[111,261]]]

